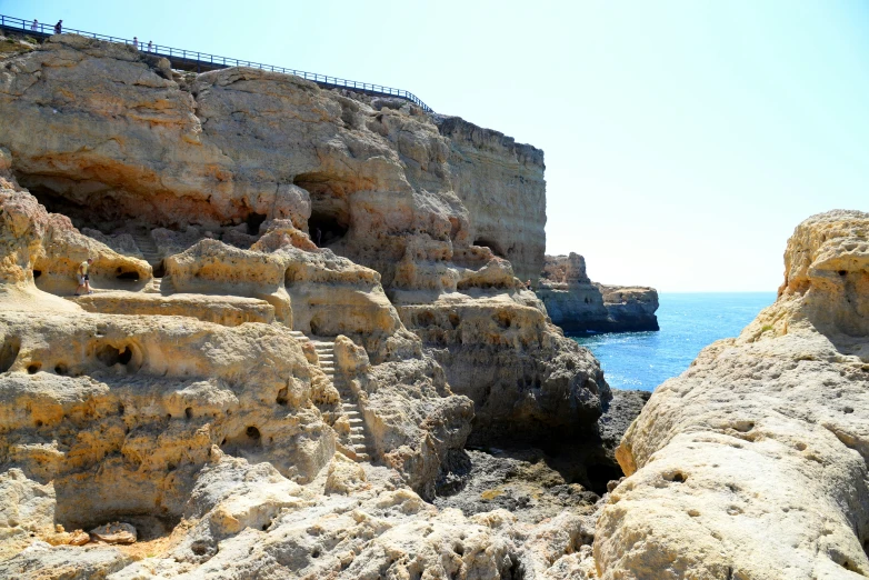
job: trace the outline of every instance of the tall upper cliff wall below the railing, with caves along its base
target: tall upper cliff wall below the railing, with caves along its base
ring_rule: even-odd
[[[68,34],[4,62],[0,106],[19,181],[79,227],[287,218],[387,286],[413,240],[424,260],[479,239],[520,276],[542,264],[542,152],[460,119],[252,69],[179,84],[163,60]]]

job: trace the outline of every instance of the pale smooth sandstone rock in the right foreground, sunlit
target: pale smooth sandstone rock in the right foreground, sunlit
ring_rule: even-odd
[[[869,576],[869,213],[806,220],[785,270],[626,433],[601,578]]]

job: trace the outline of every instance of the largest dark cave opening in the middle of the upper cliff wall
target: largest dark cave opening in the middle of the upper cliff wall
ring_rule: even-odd
[[[308,232],[320,248],[328,248],[341,240],[350,229],[350,193],[348,183],[326,173],[302,173],[293,184],[311,197],[311,217]]]

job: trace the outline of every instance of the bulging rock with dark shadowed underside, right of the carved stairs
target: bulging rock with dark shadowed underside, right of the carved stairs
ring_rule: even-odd
[[[577,436],[610,398],[598,361],[547,322],[531,292],[445,297],[399,312],[456,392],[473,400],[475,444]]]

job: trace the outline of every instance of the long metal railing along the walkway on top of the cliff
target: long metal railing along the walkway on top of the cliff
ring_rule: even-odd
[[[9,30],[21,31],[23,33],[36,34],[39,38],[47,38],[54,33],[54,24],[43,24],[42,22],[33,24],[32,20],[22,20],[20,18],[9,17],[0,14],[0,28]],[[73,28],[63,27],[62,32],[71,34],[80,34],[82,37],[96,38],[98,40],[106,40],[108,42],[117,42],[119,44],[132,46],[134,42],[130,39],[110,37],[108,34],[100,34],[98,32],[87,32],[84,30],[76,30]],[[249,60],[239,60],[229,57],[218,57],[217,54],[209,54],[207,52],[199,52],[194,50],[177,49],[167,47],[163,44],[153,44],[151,42],[139,41],[137,49],[144,53],[153,54],[156,57],[164,57],[170,62],[183,61],[184,64],[199,64],[206,70],[223,69],[229,67],[250,67],[254,69],[268,70],[272,72],[281,72],[284,74],[294,74],[302,79],[313,81],[318,84],[328,88],[344,88],[353,89],[357,91],[369,92],[374,94],[383,94],[389,97],[398,97],[399,99],[406,99],[426,112],[432,112],[431,108],[422,102],[412,92],[403,89],[393,89],[392,87],[383,87],[382,84],[372,84],[370,82],[359,82],[348,79],[341,79],[338,77],[329,77],[328,74],[318,74],[316,72],[307,72],[303,70],[288,69],[284,67],[276,67],[273,64],[263,64],[261,62],[251,62]]]

